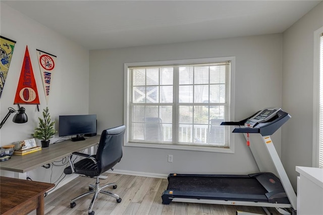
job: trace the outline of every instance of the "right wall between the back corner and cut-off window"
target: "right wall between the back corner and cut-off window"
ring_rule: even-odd
[[[282,129],[282,161],[294,188],[295,166],[312,166],[313,37],[323,26],[323,3],[283,33],[283,108],[292,118]]]

